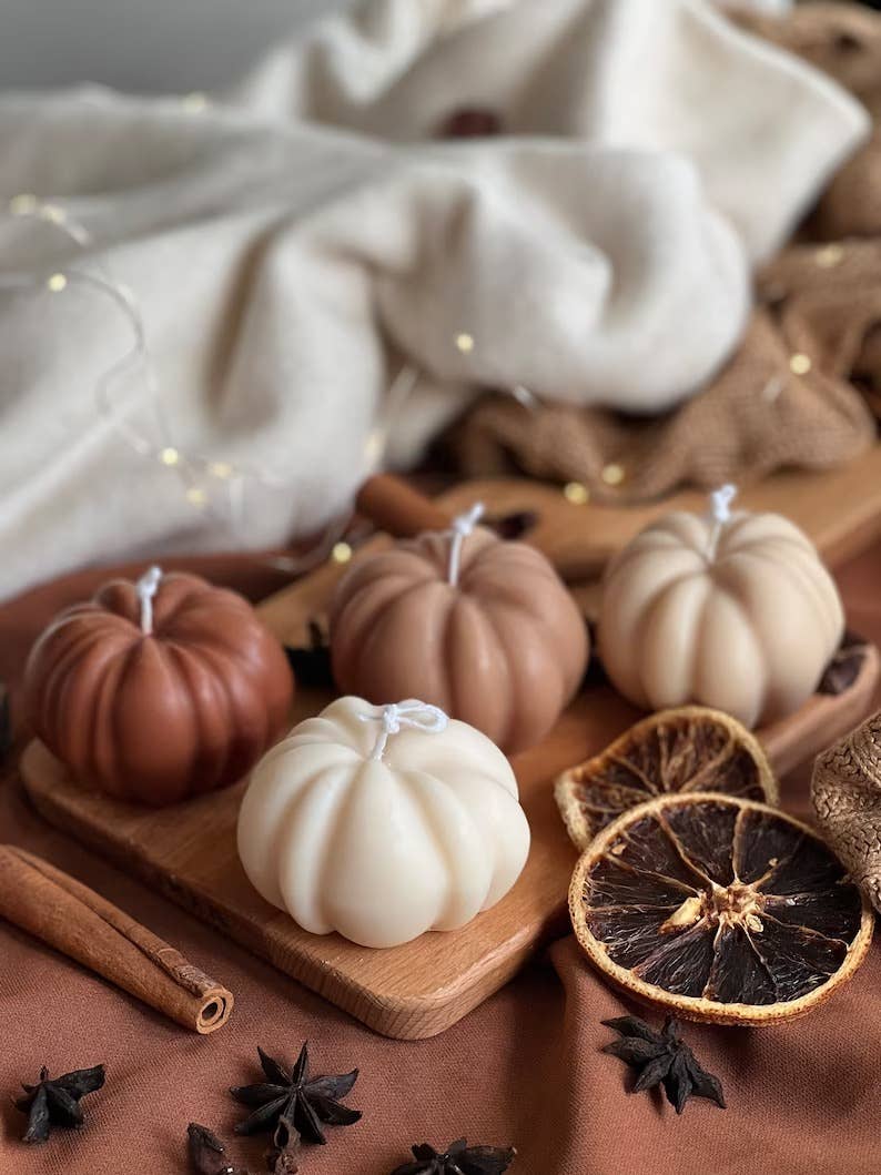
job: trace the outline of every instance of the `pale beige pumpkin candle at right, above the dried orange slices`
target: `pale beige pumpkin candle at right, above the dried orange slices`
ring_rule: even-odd
[[[811,697],[840,644],[841,600],[809,539],[780,515],[732,513],[735,492],[653,522],[606,571],[600,656],[638,706],[764,725]]]

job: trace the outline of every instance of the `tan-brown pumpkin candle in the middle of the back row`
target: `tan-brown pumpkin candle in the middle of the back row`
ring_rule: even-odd
[[[547,559],[477,526],[482,509],[356,562],[331,604],[330,650],[345,692],[424,698],[511,753],[577,690],[587,631]]]

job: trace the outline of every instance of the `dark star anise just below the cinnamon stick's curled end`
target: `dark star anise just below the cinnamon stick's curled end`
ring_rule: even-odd
[[[358,1080],[358,1070],[339,1076],[309,1077],[309,1047],[303,1045],[291,1070],[281,1061],[267,1056],[257,1048],[267,1081],[253,1086],[237,1086],[230,1093],[244,1106],[257,1108],[236,1126],[236,1134],[260,1134],[281,1124],[294,1129],[305,1142],[327,1142],[322,1122],[330,1126],[351,1126],[361,1110],[339,1102]]]

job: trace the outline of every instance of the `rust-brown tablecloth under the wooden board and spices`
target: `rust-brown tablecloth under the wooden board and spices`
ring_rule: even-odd
[[[181,564],[183,565],[183,564]],[[253,597],[281,585],[254,558],[189,560]],[[0,678],[14,683],[26,650],[62,603],[102,578],[88,572],[0,609]],[[839,575],[852,626],[881,642],[881,546]],[[805,812],[808,772],[789,779],[787,807]],[[256,1046],[292,1059],[309,1039],[320,1072],[361,1067],[349,1099],[355,1127],[309,1148],[304,1175],[384,1175],[411,1142],[513,1143],[519,1175],[876,1175],[881,1170],[881,947],[828,1006],[765,1030],[686,1027],[721,1077],[722,1112],[693,1101],[681,1119],[660,1099],[627,1096],[627,1070],[599,1053],[600,1020],[625,1006],[579,958],[574,941],[547,956],[433,1040],[384,1040],[217,932],[52,831],[28,807],[14,773],[0,786],[0,834],[94,886],[221,979],[236,995],[214,1036],[183,1032],[0,922],[0,1171],[128,1175],[184,1171],[190,1120],[231,1142],[236,1161],[262,1169],[262,1142],[238,1143],[227,1087],[257,1080]],[[644,1013],[645,1014],[645,1013]],[[657,1018],[655,1018],[657,1019]],[[54,1073],[107,1065],[107,1086],[86,1102],[81,1135],[43,1147],[18,1141],[16,1083],[41,1065]]]

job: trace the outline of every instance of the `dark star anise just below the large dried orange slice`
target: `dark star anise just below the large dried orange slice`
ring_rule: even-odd
[[[679,1035],[674,1016],[667,1016],[661,1032],[654,1032],[639,1016],[618,1016],[603,1023],[621,1036],[606,1045],[603,1052],[626,1061],[637,1070],[632,1093],[663,1085],[667,1101],[677,1114],[682,1113],[690,1097],[708,1097],[725,1109],[719,1079],[698,1063],[694,1053]]]

